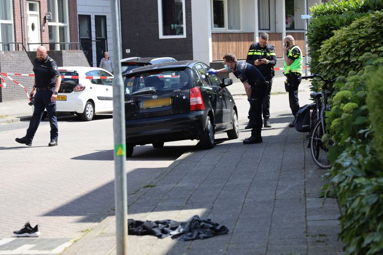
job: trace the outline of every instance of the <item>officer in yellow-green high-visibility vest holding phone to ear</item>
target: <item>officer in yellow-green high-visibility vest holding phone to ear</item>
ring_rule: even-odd
[[[295,115],[299,110],[298,86],[302,81],[302,50],[295,45],[294,37],[287,35],[283,39],[283,74],[286,76],[285,90],[289,93],[289,103],[294,120],[289,124],[290,128],[295,127]]]

